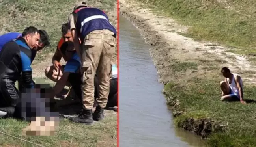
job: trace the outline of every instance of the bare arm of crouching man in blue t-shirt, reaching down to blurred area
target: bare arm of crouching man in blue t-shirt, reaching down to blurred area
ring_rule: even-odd
[[[50,95],[50,98],[55,97],[58,93],[62,91],[62,89],[65,87],[65,84],[67,83],[67,79],[69,77],[69,72],[65,72],[60,80],[58,80],[52,90],[52,93]]]

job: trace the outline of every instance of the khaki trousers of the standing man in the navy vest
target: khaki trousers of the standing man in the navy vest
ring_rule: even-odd
[[[112,56],[115,52],[116,38],[109,30],[95,30],[84,38],[81,52],[82,102],[85,109],[93,108],[94,77],[99,81],[99,96],[96,101],[105,108],[109,95]]]

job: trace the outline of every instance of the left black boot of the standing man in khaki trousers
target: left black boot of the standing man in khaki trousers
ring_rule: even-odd
[[[91,125],[93,123],[92,110],[83,110],[78,117],[69,117],[69,120],[75,123],[84,123]]]

